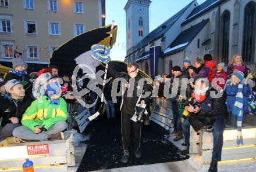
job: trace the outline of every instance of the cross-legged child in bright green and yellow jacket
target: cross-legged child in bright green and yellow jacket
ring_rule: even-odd
[[[63,139],[67,127],[67,104],[61,98],[61,85],[47,81],[45,96],[33,101],[23,114],[22,125],[13,131],[13,136],[22,141]]]

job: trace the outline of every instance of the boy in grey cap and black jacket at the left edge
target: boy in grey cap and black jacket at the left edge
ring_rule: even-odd
[[[0,141],[6,137],[12,136],[15,127],[21,126],[22,114],[32,103],[31,98],[26,98],[24,85],[27,82],[19,82],[17,79],[11,79],[5,83],[5,97],[0,98],[0,118],[2,123],[0,127]]]

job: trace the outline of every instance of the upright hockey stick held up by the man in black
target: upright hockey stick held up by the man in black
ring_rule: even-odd
[[[111,49],[111,42],[112,42],[112,37],[113,37],[114,24],[115,24],[115,21],[112,20],[112,23],[111,23],[111,34],[110,34],[109,45],[108,45],[109,49]],[[103,100],[104,100],[104,90],[105,90],[105,85],[106,85],[106,74],[107,73],[108,73],[108,63],[106,63],[106,66],[105,66],[105,74],[104,74],[104,79],[103,79],[103,84],[102,84],[102,93],[101,93],[101,105],[100,105],[98,111],[95,114],[91,115],[90,117],[88,117],[86,119],[87,122],[97,118],[101,114],[101,112],[102,112],[102,107],[104,105]]]

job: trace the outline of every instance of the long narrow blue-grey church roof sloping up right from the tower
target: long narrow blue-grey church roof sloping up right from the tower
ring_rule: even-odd
[[[165,32],[167,32],[169,28],[172,27],[173,24],[175,24],[175,21],[177,21],[177,19],[179,19],[179,17],[182,16],[182,14],[189,8],[191,3],[194,3],[194,1],[190,2],[189,5],[185,6],[174,16],[170,17],[170,19],[166,20],[164,23],[159,25],[159,27],[155,28],[155,30],[151,31],[147,36],[145,36],[145,38],[138,42],[136,46],[132,47],[133,50],[127,56],[130,56],[130,54],[133,54],[137,50],[141,49],[141,47],[148,45],[148,42],[151,43],[156,39],[161,38],[161,36],[165,34]]]

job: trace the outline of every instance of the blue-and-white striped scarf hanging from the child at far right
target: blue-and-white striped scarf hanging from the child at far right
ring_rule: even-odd
[[[236,102],[232,114],[237,116],[237,145],[243,145],[242,120],[243,120],[243,81],[237,86]]]

